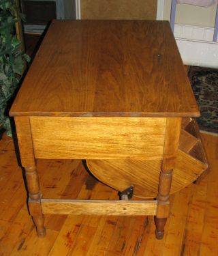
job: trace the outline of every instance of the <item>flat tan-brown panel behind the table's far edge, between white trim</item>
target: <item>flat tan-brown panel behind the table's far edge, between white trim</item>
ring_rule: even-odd
[[[81,0],[81,18],[155,20],[157,0]]]

